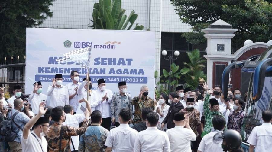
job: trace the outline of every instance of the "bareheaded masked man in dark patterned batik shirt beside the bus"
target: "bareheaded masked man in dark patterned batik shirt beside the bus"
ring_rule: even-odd
[[[243,105],[244,101],[242,99],[236,99],[234,101],[234,111],[232,111],[228,116],[228,129],[233,129],[238,132],[241,131],[242,120],[244,118],[244,111],[241,109]]]

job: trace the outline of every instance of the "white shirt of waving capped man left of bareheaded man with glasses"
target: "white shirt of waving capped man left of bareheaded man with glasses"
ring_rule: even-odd
[[[47,96],[50,97],[50,103],[49,105],[53,108],[57,106],[65,106],[69,104],[69,94],[67,87],[61,85],[59,88],[52,87],[53,85],[50,85],[47,89]]]

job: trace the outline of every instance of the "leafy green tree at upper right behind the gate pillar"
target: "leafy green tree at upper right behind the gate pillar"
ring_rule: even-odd
[[[232,46],[240,48],[246,39],[267,42],[272,38],[271,0],[171,0],[180,19],[192,26],[183,36],[193,44],[206,41],[201,29],[218,19],[237,28]]]

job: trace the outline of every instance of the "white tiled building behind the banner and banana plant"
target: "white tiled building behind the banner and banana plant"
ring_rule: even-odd
[[[93,5],[96,2],[98,0],[54,1],[53,6],[50,7],[53,17],[45,20],[39,27],[91,29],[88,26],[92,25],[90,19],[92,20]],[[180,56],[175,63],[182,67],[183,61],[186,61],[185,51],[193,50],[194,47],[181,37],[181,33],[190,31],[190,26],[182,23],[175,12],[175,7],[170,3],[170,0],[123,0],[121,5],[121,8],[126,10],[127,16],[132,10],[138,14],[134,27],[136,23],[139,23],[144,26],[144,30],[155,31],[155,70],[157,71],[160,71],[161,68],[169,70],[169,62],[163,59],[161,50],[167,50],[167,55],[172,54],[175,50],[180,51]],[[200,47],[203,56],[206,46]]]

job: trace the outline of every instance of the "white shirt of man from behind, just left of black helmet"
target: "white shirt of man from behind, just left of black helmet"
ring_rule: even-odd
[[[221,147],[223,140],[218,144],[215,144],[213,142],[213,136],[218,132],[222,131],[213,131],[205,135],[202,138],[197,150],[201,152],[223,152],[223,149]]]

